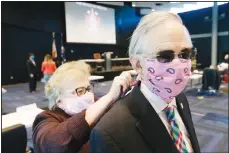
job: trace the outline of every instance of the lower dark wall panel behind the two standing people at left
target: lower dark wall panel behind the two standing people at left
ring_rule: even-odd
[[[2,84],[26,82],[26,60],[33,52],[40,69],[45,54],[52,49],[52,33],[2,24]],[[60,37],[56,37],[60,47]],[[13,79],[10,77],[13,76]]]

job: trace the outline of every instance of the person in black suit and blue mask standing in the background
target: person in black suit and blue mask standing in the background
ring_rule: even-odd
[[[26,66],[29,74],[29,92],[36,92],[38,70],[33,53],[29,53],[29,59],[26,62]]]

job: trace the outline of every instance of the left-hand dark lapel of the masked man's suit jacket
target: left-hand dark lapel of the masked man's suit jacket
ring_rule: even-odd
[[[157,153],[178,153],[166,127],[140,91],[140,83],[131,92],[129,110],[136,117],[136,127],[146,144]]]

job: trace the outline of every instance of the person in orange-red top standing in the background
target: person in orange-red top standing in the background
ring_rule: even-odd
[[[56,63],[52,60],[52,56],[49,54],[45,55],[44,61],[42,62],[41,71],[43,73],[43,82],[46,84],[49,78],[56,70]]]

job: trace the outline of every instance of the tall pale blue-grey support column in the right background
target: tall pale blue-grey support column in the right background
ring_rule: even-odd
[[[217,38],[218,38],[218,5],[214,2],[212,7],[212,54],[211,65],[217,65]]]

